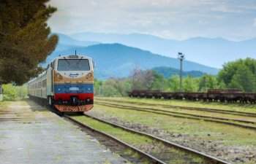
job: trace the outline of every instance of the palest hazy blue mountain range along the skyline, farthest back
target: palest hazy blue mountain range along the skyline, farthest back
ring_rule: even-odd
[[[230,60],[246,57],[256,58],[256,39],[232,42],[222,38],[196,37],[177,41],[146,34],[101,34],[91,32],[71,34],[70,36],[78,40],[125,44],[172,58],[176,58],[178,52],[183,52],[187,60],[217,68],[221,68],[223,63]]]

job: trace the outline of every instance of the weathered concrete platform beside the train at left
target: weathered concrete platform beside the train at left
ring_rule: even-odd
[[[33,101],[0,104],[0,163],[127,163]]]

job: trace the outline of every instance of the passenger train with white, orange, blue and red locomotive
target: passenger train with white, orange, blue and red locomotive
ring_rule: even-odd
[[[88,112],[94,106],[94,67],[89,56],[60,55],[28,82],[29,98],[60,112]]]

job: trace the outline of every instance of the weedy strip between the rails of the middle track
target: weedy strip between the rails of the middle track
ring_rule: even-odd
[[[143,108],[143,107],[125,106],[120,104],[113,104],[113,103],[106,103],[106,102],[99,102],[99,101],[94,101],[94,102],[95,104],[99,104],[102,106],[110,106],[118,109],[124,109],[124,110],[129,109],[129,110],[135,110],[140,112],[151,112],[154,114],[162,114],[162,115],[167,115],[171,117],[181,117],[181,118],[187,118],[187,119],[193,119],[193,120],[205,120],[208,122],[217,122],[217,123],[222,123],[227,125],[234,125],[240,128],[249,128],[252,130],[256,130],[256,126],[255,126],[256,122],[251,122],[247,120],[235,120],[235,119],[223,118],[223,117],[208,117],[208,116],[202,116],[198,114],[186,114],[181,112],[167,111],[163,109],[151,109],[151,108]]]

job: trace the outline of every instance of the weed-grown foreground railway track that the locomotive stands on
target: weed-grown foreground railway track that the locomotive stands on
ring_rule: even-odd
[[[94,133],[97,133],[97,135],[103,135],[108,138],[108,140],[115,141],[118,144],[126,147],[126,149],[132,149],[132,151],[135,151],[140,156],[146,157],[150,163],[227,163],[223,160],[217,159],[216,157],[211,157],[210,155],[197,152],[194,149],[183,147],[173,142],[166,141],[162,138],[158,138],[156,136],[152,136],[137,130],[125,128],[121,125],[107,122],[96,117],[91,117],[86,114],[84,116],[86,118],[86,125],[81,123],[82,121],[76,119],[77,116],[64,115],[64,117],[66,117],[68,120],[71,120],[72,122],[75,122],[75,124],[78,124],[81,128],[90,128],[94,131]],[[107,132],[97,130],[91,127],[91,125],[88,125],[91,121],[96,121],[98,126],[108,125],[112,129],[106,130]],[[120,130],[121,135],[119,134],[119,136],[117,135],[118,137],[116,137],[116,133],[120,132]],[[112,132],[112,134],[109,134],[110,132]],[[136,144],[133,143],[133,141],[130,139],[126,140],[124,137],[131,135],[133,138],[143,138],[146,140],[146,142],[140,141],[139,144]],[[145,145],[148,145],[150,149],[146,148]]]

